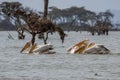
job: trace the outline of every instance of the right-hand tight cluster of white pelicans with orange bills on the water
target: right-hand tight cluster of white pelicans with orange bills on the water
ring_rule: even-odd
[[[110,54],[110,50],[103,44],[96,44],[88,39],[78,42],[67,51],[71,54]]]

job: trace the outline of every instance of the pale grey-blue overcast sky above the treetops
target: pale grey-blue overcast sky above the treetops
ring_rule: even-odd
[[[43,11],[43,0],[0,0],[4,1],[19,1],[24,6]],[[82,7],[92,11],[120,10],[120,0],[49,0],[49,6],[58,8],[68,8],[71,6]]]

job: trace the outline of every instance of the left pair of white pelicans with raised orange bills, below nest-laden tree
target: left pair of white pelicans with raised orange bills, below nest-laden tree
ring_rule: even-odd
[[[28,54],[31,53],[54,54],[55,52],[51,51],[52,49],[53,45],[51,44],[37,45],[37,43],[35,43],[34,45],[32,45],[31,42],[27,42],[20,52]]]

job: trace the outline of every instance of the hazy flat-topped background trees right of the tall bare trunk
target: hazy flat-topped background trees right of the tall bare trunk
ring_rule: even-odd
[[[113,14],[110,10],[95,13],[84,7],[71,7],[58,9],[49,7],[49,18],[56,24],[61,25],[65,30],[88,30],[102,34],[108,31],[112,25]]]

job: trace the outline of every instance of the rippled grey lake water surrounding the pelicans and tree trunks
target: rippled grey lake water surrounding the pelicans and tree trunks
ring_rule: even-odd
[[[66,32],[62,44],[59,35],[50,35],[56,54],[21,54],[20,50],[31,36],[18,40],[16,32],[0,32],[0,80],[120,80],[120,32],[109,36],[91,36],[88,32]],[[104,44],[110,55],[69,54],[66,49],[85,38]],[[36,39],[38,44],[43,41]]]

